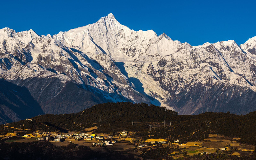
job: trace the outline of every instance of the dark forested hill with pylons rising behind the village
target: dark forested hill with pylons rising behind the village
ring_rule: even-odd
[[[26,132],[86,132],[86,128],[97,127],[93,132],[115,134],[127,130],[136,132],[135,136],[141,139],[163,138],[182,141],[198,141],[206,138],[208,134],[220,134],[230,138],[238,137],[242,143],[255,145],[255,119],[256,112],[240,116],[213,112],[190,116],[178,115],[177,112],[159,106],[148,106],[145,103],[118,102],[98,104],[76,114],[36,116],[32,121],[21,120],[6,126],[20,128],[24,125],[24,128],[28,129]],[[4,126],[0,126],[1,132],[8,132],[7,128],[4,131]]]

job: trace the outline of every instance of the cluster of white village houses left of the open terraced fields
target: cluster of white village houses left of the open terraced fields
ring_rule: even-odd
[[[54,145],[59,146],[67,146],[69,143],[76,143],[79,145],[85,146],[94,146],[94,147],[102,147],[102,146],[113,146],[117,140],[125,140],[127,137],[127,131],[118,132],[116,136],[108,135],[108,134],[95,134],[95,133],[59,133],[59,132],[40,132],[36,131],[33,133],[25,134],[23,136],[18,136],[16,133],[7,133],[5,135],[0,135],[1,137],[22,137],[23,140],[17,140],[16,142],[32,142],[32,141],[49,141]],[[8,140],[7,140],[8,142]],[[57,142],[57,143],[56,143]],[[122,146],[125,147],[126,143],[123,143]],[[142,145],[129,145],[132,148],[140,148],[147,146],[146,144]]]

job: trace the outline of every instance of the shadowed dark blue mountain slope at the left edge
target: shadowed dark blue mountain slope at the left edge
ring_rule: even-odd
[[[0,80],[0,123],[44,114],[26,87]]]

